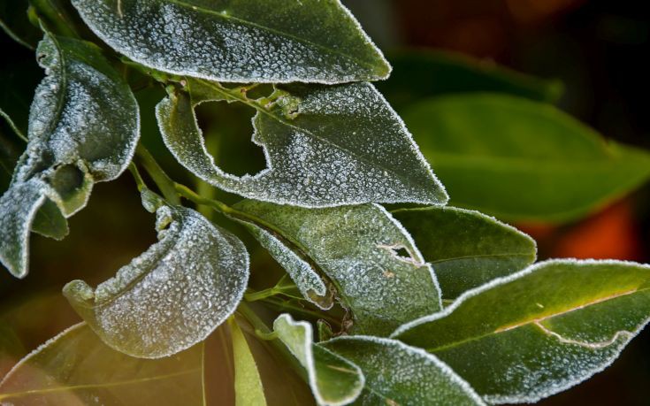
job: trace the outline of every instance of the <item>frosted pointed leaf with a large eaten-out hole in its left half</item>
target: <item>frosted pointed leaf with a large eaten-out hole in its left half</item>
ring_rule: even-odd
[[[158,125],[187,170],[245,197],[302,207],[447,202],[401,119],[371,84],[293,85],[285,91],[290,96],[281,100],[295,103],[289,110],[256,104],[253,141],[264,148],[268,168],[252,176],[233,176],[214,164],[193,103],[182,92],[158,103]],[[219,98],[227,97],[213,97]]]

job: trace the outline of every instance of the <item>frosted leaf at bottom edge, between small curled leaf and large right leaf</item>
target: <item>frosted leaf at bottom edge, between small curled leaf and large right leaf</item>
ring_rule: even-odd
[[[446,364],[400,341],[353,335],[317,345],[358,365],[365,376],[359,404],[485,404]]]

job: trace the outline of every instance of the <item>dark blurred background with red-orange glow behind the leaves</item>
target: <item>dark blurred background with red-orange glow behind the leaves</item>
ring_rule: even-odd
[[[447,50],[473,57],[476,64],[500,64],[522,73],[560,80],[564,92],[557,105],[563,111],[608,138],[650,149],[646,101],[650,90],[647,75],[650,22],[644,2],[345,0],[343,3],[389,58],[405,49]],[[24,120],[42,71],[30,50],[11,42],[5,35],[0,38],[5,56],[0,62],[5,83],[0,104],[4,103],[6,108],[6,103],[11,103],[11,110],[18,111],[18,119]],[[160,88],[140,94],[142,111],[145,108],[152,111],[153,104],[161,97]],[[247,119],[251,111],[211,107],[214,106],[202,106],[199,116],[210,149],[222,157],[220,164],[234,173],[262,169],[262,152],[249,142]],[[19,111],[23,111],[23,117]],[[204,188],[175,166],[170,157],[164,156],[152,115],[143,117],[142,136],[149,149],[163,157],[165,166],[171,168],[177,179]],[[11,145],[3,148],[6,150]],[[218,197],[236,200],[229,195]],[[646,184],[579,220],[562,224],[520,222],[515,226],[538,241],[540,259],[593,257],[650,263],[650,188]],[[0,330],[12,326],[11,331],[0,331],[0,344],[4,349],[11,349],[7,354],[12,355],[0,357],[0,375],[19,356],[78,320],[60,295],[67,281],[83,279],[96,285],[156,241],[153,217],[141,209],[139,195],[128,174],[115,182],[96,185],[88,208],[71,218],[70,227],[71,234],[64,241],[32,237],[32,272],[27,279],[13,280],[7,272],[0,272]],[[270,280],[278,279],[281,271],[264,252],[254,248],[252,241],[246,242],[254,251],[253,284],[268,286]],[[606,372],[541,404],[647,405],[650,404],[648,384],[650,329],[646,328]]]

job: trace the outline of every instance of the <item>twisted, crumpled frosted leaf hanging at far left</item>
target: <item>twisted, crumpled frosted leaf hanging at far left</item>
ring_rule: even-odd
[[[30,228],[62,238],[64,217],[86,204],[95,182],[124,171],[139,136],[133,93],[95,45],[45,34],[36,54],[46,76],[29,112],[27,150],[0,197],[0,262],[19,278]]]

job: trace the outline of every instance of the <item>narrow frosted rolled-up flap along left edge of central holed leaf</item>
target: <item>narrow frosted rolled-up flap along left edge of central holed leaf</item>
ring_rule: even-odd
[[[327,288],[325,283],[320,279],[317,272],[314,272],[310,264],[296,255],[293,250],[287,249],[271,233],[262,228],[249,225],[249,223],[245,223],[245,225],[249,226],[251,233],[255,234],[257,241],[269,251],[271,257],[275,258],[287,270],[296,287],[307,300],[323,310],[332,308],[333,301],[328,300],[326,297]]]

